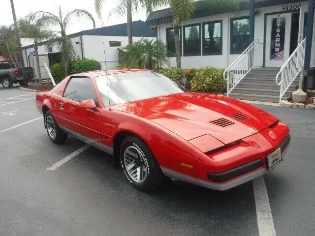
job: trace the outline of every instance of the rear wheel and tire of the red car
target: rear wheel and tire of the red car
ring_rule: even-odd
[[[63,144],[68,135],[63,132],[50,111],[45,113],[45,126],[48,137],[54,144]]]

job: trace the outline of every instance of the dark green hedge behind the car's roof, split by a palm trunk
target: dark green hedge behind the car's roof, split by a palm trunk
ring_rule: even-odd
[[[74,60],[70,63],[69,74],[71,75],[86,71],[100,70],[101,68],[101,64],[94,59],[85,58],[81,60]],[[53,64],[50,67],[50,73],[57,84],[61,82],[65,78],[63,62]]]

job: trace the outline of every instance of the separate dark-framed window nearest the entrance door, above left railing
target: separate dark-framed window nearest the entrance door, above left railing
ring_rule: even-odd
[[[230,53],[241,54],[250,45],[250,18],[231,19]]]

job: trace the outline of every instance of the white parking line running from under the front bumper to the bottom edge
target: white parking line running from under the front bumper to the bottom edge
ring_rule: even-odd
[[[259,236],[276,236],[264,177],[252,180]]]

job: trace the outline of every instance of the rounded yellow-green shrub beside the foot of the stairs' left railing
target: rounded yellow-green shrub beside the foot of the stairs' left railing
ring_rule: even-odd
[[[223,78],[224,69],[201,67],[196,70],[190,81],[191,90],[195,92],[226,91],[226,81]]]

